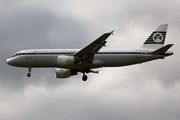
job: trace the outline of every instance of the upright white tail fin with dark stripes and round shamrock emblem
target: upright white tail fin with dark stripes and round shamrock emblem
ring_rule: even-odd
[[[143,49],[158,49],[164,45],[168,24],[161,24],[144,42]]]

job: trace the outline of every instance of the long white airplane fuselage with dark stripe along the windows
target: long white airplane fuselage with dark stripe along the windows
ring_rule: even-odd
[[[58,56],[73,56],[78,49],[28,49],[15,53],[14,56],[8,58],[6,62],[16,67],[59,67],[57,64]],[[163,55],[152,55],[150,50],[100,50],[95,54],[93,63],[79,63],[66,66],[66,69],[82,69],[85,66],[90,68],[98,67],[119,67],[133,65],[151,61],[155,59],[163,59],[172,55],[172,52],[166,52]],[[88,65],[87,65],[88,64]]]

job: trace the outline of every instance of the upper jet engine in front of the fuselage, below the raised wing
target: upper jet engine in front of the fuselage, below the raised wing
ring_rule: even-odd
[[[58,56],[57,64],[59,67],[67,67],[73,64],[81,64],[81,61],[75,59],[74,56]]]

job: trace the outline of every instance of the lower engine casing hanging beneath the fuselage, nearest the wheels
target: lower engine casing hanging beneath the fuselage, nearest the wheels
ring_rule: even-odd
[[[56,69],[56,78],[68,78],[71,77],[71,70],[69,69]]]

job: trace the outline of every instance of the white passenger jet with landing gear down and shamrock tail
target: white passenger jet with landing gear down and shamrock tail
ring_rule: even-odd
[[[31,68],[56,68],[56,78],[68,78],[83,73],[82,80],[87,80],[86,73],[98,73],[93,69],[101,67],[121,67],[164,59],[173,55],[168,51],[173,44],[164,46],[168,24],[160,24],[137,49],[100,50],[107,43],[106,39],[114,31],[105,33],[83,49],[27,49],[16,52],[6,60],[15,67],[28,68],[27,76],[31,76]]]

